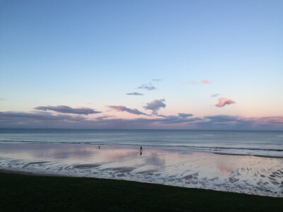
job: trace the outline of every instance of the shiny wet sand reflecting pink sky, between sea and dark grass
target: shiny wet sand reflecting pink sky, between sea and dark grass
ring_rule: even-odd
[[[0,169],[283,196],[283,159],[173,148],[0,143]]]

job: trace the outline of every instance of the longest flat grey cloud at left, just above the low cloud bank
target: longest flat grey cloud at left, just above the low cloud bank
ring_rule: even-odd
[[[58,106],[40,106],[40,107],[35,107],[35,110],[52,110],[55,112],[61,112],[61,113],[69,113],[69,114],[84,114],[84,115],[88,115],[88,114],[96,114],[96,113],[100,113],[99,111],[93,110],[89,107],[69,107],[66,105],[58,105]]]

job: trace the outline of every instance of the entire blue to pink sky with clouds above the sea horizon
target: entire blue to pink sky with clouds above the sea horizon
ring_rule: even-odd
[[[0,1],[0,128],[283,130],[283,1]]]

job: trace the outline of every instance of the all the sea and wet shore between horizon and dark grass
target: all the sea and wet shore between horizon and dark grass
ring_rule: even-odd
[[[0,129],[0,171],[282,198],[283,131]]]

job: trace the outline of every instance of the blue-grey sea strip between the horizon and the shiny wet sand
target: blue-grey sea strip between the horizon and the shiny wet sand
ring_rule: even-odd
[[[0,129],[0,142],[156,146],[283,157],[283,131]]]

